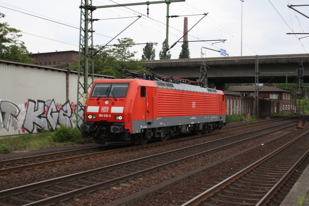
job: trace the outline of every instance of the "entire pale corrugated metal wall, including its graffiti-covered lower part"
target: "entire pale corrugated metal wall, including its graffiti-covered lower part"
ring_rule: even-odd
[[[0,137],[55,129],[60,124],[74,127],[78,75],[69,75],[67,101],[66,74],[65,69],[0,60]]]

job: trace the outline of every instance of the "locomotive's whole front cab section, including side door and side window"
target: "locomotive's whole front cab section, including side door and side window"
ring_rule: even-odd
[[[83,137],[107,145],[141,142],[139,134],[153,127],[154,87],[142,79],[95,80],[80,127]]]

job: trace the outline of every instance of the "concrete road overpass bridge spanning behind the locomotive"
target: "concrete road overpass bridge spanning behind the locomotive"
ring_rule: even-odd
[[[203,60],[209,83],[224,90],[225,83],[254,83],[256,56],[211,57],[144,61],[152,73],[196,81]],[[309,54],[258,56],[259,83],[288,83],[295,81],[298,61],[303,62],[304,82],[309,82]]]

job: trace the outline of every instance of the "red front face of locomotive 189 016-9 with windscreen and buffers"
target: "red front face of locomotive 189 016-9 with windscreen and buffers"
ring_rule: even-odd
[[[116,80],[94,83],[85,107],[86,121],[81,125],[83,137],[93,137],[100,144],[112,139],[130,141],[130,131],[125,129],[129,85],[130,82]]]

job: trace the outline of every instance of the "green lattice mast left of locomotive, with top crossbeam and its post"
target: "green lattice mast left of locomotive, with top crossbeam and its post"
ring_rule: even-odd
[[[105,6],[92,6],[92,0],[81,0],[80,12],[80,32],[79,32],[79,52],[78,52],[78,85],[77,85],[77,102],[76,102],[76,128],[79,128],[84,122],[84,105],[88,98],[91,86],[94,80],[94,63],[93,56],[95,55],[93,51],[93,27],[92,23],[95,19],[92,18],[92,12],[98,8],[110,8],[119,6],[135,6],[135,5],[150,5],[158,3],[167,4],[167,25],[166,25],[166,36],[168,39],[168,18],[169,18],[169,4],[172,2],[185,2],[186,0],[165,0],[165,1],[155,1],[155,2],[139,2],[139,3],[129,3],[129,4],[116,4],[116,5],[105,5]],[[168,44],[167,44],[168,45]],[[82,61],[84,60],[84,61]],[[92,69],[91,78],[92,81],[88,83],[89,68]],[[83,69],[83,73],[81,72]],[[81,78],[84,76],[84,78]]]

